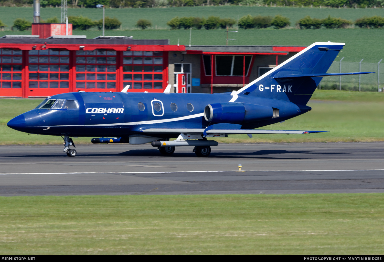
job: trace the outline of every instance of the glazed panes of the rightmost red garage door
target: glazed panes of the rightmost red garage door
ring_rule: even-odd
[[[163,52],[124,51],[123,86],[133,89],[163,88]]]

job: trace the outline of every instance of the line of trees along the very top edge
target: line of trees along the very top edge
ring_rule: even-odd
[[[96,8],[194,7],[206,5],[247,5],[267,7],[381,8],[384,0],[68,0],[68,7]],[[31,6],[33,0],[0,0],[1,6]],[[40,0],[42,7],[60,7],[61,0]]]

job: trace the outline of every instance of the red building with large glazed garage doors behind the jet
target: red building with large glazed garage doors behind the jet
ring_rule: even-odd
[[[126,85],[128,92],[164,92],[168,84],[171,92],[230,92],[305,48],[57,37],[0,39],[0,97],[116,92]]]

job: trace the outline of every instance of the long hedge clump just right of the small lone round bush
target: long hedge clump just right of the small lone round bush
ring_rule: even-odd
[[[232,18],[220,18],[218,16],[209,16],[208,19],[200,18],[200,17],[181,17],[176,16],[167,22],[167,25],[170,26],[171,29],[216,29],[216,28],[227,28],[232,27],[236,24],[236,20]]]

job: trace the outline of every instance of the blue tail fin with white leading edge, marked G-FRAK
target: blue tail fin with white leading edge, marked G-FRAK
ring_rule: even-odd
[[[306,105],[344,43],[313,43],[236,92]],[[355,74],[355,73],[354,73]]]

